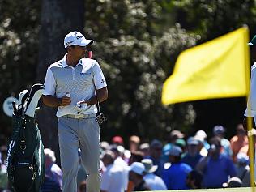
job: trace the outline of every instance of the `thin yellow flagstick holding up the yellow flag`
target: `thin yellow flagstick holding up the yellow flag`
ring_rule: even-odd
[[[247,28],[247,27],[246,27]],[[249,30],[245,31],[245,41],[249,42]],[[254,138],[252,137],[252,117],[251,116],[251,104],[250,104],[250,53],[248,45],[244,45],[245,51],[245,84],[246,84],[246,100],[247,100],[247,109],[248,116],[247,117],[247,130],[249,132],[249,157],[250,157],[250,186],[253,192],[255,192],[254,185]]]

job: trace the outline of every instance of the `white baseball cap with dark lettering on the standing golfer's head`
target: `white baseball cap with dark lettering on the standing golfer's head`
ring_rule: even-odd
[[[82,35],[81,32],[70,32],[64,38],[64,47],[69,47],[71,45],[79,45],[85,47],[87,45],[92,44],[92,40],[87,40]]]

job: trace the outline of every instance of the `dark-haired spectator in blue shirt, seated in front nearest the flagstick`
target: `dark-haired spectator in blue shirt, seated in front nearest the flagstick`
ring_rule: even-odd
[[[230,157],[220,154],[219,137],[212,138],[210,144],[208,155],[198,162],[196,169],[203,173],[203,187],[219,188],[228,181],[228,177],[236,177],[236,169]]]

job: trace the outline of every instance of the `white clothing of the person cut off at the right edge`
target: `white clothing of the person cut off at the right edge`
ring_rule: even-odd
[[[248,99],[248,103],[250,102],[250,110],[245,110],[246,117],[254,117],[254,121],[256,123],[256,62],[251,67],[251,78],[250,78],[250,96]]]

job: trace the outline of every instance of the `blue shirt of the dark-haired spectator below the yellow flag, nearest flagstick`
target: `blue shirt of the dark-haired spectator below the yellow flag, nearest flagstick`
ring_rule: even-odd
[[[233,161],[223,154],[214,160],[210,157],[203,170],[203,187],[219,188],[228,181],[228,176],[235,177],[236,169]]]

